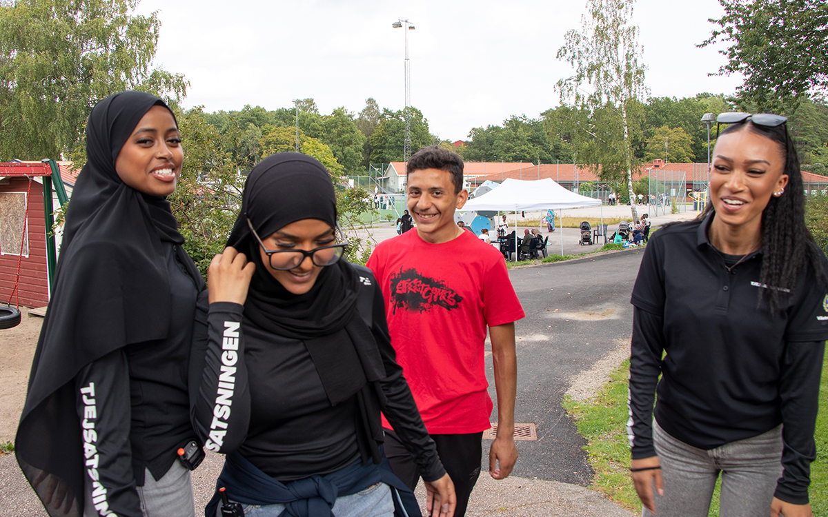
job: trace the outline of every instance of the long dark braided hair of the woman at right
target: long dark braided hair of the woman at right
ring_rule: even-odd
[[[759,282],[777,289],[760,289],[759,298],[768,295],[772,312],[779,305],[779,293],[792,290],[797,275],[808,266],[813,268],[816,278],[828,288],[828,273],[822,267],[821,252],[814,243],[811,232],[805,225],[805,194],[803,193],[802,171],[793,141],[788,135],[787,124],[777,127],[759,126],[753,122],[739,122],[724,128],[721,135],[739,131],[751,131],[777,142],[782,156],[785,156],[787,188],[779,196],[771,196],[768,206],[762,212],[762,268]],[[713,209],[708,203],[700,217]]]

